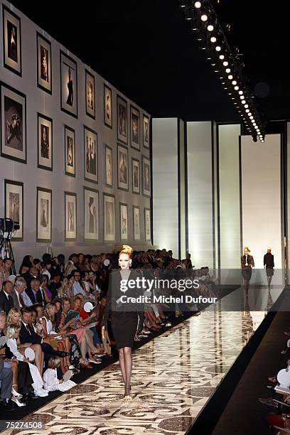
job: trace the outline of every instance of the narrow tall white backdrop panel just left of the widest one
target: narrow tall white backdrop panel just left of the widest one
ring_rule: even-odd
[[[220,267],[240,269],[240,124],[218,126]]]

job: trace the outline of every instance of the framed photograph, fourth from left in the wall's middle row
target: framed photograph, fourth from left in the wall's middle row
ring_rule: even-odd
[[[97,131],[84,126],[85,180],[98,181]]]

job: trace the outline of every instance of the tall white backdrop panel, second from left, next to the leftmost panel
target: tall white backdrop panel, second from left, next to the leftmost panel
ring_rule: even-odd
[[[212,124],[187,123],[188,251],[195,267],[213,267]]]

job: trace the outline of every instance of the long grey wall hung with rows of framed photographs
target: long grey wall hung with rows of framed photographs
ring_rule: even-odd
[[[135,249],[148,249],[151,245],[151,228],[148,226],[151,195],[149,114],[128,100],[122,92],[115,89],[9,3],[0,1],[0,6],[1,29],[4,26],[4,32],[2,30],[0,32],[3,54],[0,64],[0,217],[7,215],[9,198],[11,203],[11,198],[13,202],[15,195],[20,195],[18,205],[21,214],[21,186],[14,188],[15,185],[11,181],[23,183],[23,228],[21,228],[23,234],[18,232],[18,238],[23,237],[23,240],[13,242],[16,263],[18,264],[25,254],[40,257],[48,249],[53,249],[53,254],[62,252],[65,255],[73,251],[91,254],[111,252],[123,243],[128,243]],[[6,9],[2,14],[4,6]],[[14,28],[16,48],[15,45],[11,45],[12,28]],[[49,63],[51,63],[49,80],[43,80],[43,70],[41,63],[38,62],[38,58],[43,60],[43,53],[45,53],[43,49],[48,50],[46,52],[48,75],[50,75]],[[68,68],[70,68],[70,80],[73,80],[74,85],[73,95],[68,85]],[[90,87],[90,83],[93,84],[94,80],[95,99],[92,97],[93,88]],[[51,93],[47,92],[50,91],[50,85]],[[46,90],[43,87],[46,87]],[[112,96],[109,93],[112,119],[107,119],[107,122],[110,124],[112,120],[112,128],[104,124],[107,114],[107,94],[104,95],[104,92],[109,90],[112,91]],[[12,105],[10,104],[9,107],[7,102],[12,102]],[[126,107],[127,130],[125,131],[121,115],[124,114]],[[17,149],[21,148],[19,145],[21,141],[18,141],[17,131],[12,126],[12,117],[16,109],[18,115],[22,114],[23,118],[26,112],[26,122],[21,119],[19,129],[23,151]],[[7,126],[7,120],[10,126]],[[17,121],[17,117],[14,118],[14,124]],[[144,130],[144,122],[148,124],[148,135],[147,130],[146,132]],[[44,127],[40,125],[45,127],[46,133],[50,134],[46,139],[50,145],[49,151],[46,149],[47,156],[43,151],[45,139],[41,142]],[[11,131],[13,139],[9,144],[8,136]],[[25,135],[26,153],[24,152]],[[97,144],[97,153],[95,153],[97,164],[96,168],[92,166],[92,169],[87,166],[85,150],[90,141],[93,144],[92,153],[89,153],[89,156],[92,156],[92,161],[89,159],[92,165],[95,164],[94,144]],[[105,165],[106,155],[108,157],[110,154],[112,154],[112,180],[109,179]],[[136,171],[139,166],[139,176],[138,173],[135,174],[135,186],[132,183],[132,163]],[[51,166],[52,171],[49,170]],[[146,179],[143,176],[144,171]],[[5,180],[6,188],[4,188]],[[84,190],[85,188],[91,190]],[[104,198],[104,194],[107,194],[107,197]],[[90,214],[88,214],[90,198],[95,205],[94,210],[91,208],[91,213],[94,215],[92,232],[90,232]],[[104,200],[107,201],[105,207]],[[121,206],[123,236],[120,222]],[[106,221],[104,215],[106,210],[112,211],[111,207],[114,207],[114,216],[109,218],[113,218],[114,222],[109,222],[108,216]],[[73,226],[69,228],[69,225]],[[105,228],[108,225],[111,228]]]

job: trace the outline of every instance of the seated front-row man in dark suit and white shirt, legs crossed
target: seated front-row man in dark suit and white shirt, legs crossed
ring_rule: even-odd
[[[53,355],[59,356],[60,358],[64,358],[69,354],[67,352],[60,352],[58,350],[54,350],[48,343],[43,342],[43,338],[41,335],[38,335],[32,325],[32,311],[29,307],[24,307],[21,309],[22,314],[22,322],[21,322],[21,330],[19,333],[19,339],[21,344],[23,343],[31,343],[41,345],[41,350],[44,354],[44,360],[47,362],[49,358]],[[42,372],[42,371],[41,371]]]

